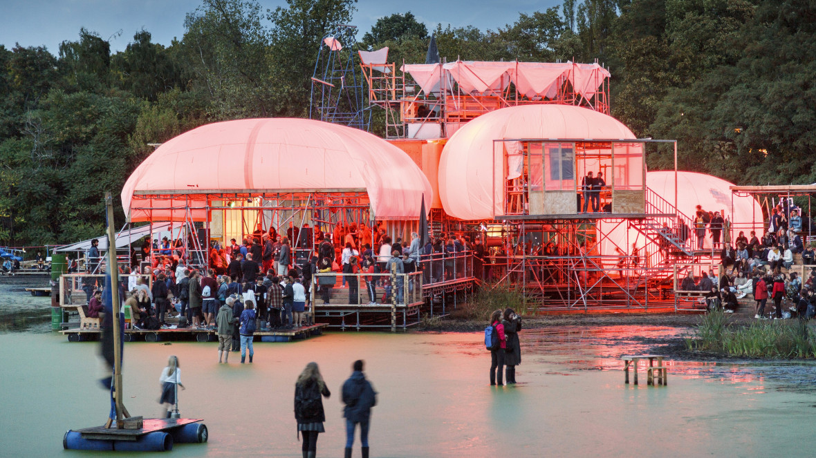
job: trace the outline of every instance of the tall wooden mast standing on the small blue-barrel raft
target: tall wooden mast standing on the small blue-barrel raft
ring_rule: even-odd
[[[116,232],[113,230],[113,196],[110,192],[104,195],[105,208],[108,211],[108,268],[110,269],[111,312],[113,315],[113,403],[116,406],[116,427],[124,427],[123,418],[128,413],[122,405],[122,343],[119,335],[119,269],[116,262]],[[111,419],[109,419],[111,420]],[[111,423],[109,421],[109,423]],[[110,427],[110,425],[107,425]]]

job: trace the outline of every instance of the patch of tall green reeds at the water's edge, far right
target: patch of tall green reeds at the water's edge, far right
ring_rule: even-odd
[[[751,358],[816,358],[816,334],[799,319],[757,321],[734,326],[727,315],[712,311],[685,341],[690,350]]]

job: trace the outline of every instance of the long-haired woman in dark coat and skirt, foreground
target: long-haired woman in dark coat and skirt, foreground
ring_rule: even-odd
[[[326,432],[323,428],[326,412],[323,411],[322,396],[328,398],[330,395],[317,363],[306,364],[295,383],[295,421],[298,422],[298,431],[304,436],[301,447],[304,458],[315,458],[317,455],[317,434]]]

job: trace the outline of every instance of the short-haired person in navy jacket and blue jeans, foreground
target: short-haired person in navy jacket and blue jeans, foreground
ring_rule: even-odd
[[[352,376],[343,384],[343,416],[346,418],[346,452],[345,458],[351,458],[354,445],[354,429],[360,424],[360,443],[362,458],[368,458],[368,427],[371,419],[371,407],[377,405],[377,392],[362,373],[364,362],[357,359],[352,365]]]

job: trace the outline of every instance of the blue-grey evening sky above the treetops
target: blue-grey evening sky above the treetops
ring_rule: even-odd
[[[283,0],[259,3],[264,11],[286,5]],[[0,44],[44,45],[56,55],[60,42],[77,40],[79,29],[85,27],[108,40],[112,52],[124,51],[141,29],[151,33],[153,42],[169,45],[184,35],[184,15],[201,4],[201,0],[0,0]],[[358,0],[353,25],[361,38],[380,17],[411,11],[429,31],[436,24],[495,30],[515,22],[519,13],[560,4],[561,0]]]

